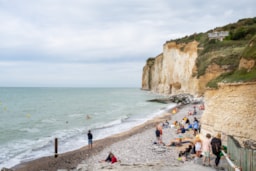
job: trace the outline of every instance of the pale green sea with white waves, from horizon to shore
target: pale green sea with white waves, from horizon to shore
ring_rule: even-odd
[[[138,88],[0,88],[0,168],[124,132],[174,106]],[[88,118],[89,117],[89,118]]]

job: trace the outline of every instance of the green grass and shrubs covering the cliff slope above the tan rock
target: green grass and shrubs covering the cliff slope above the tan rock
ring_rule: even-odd
[[[209,40],[208,33],[228,31],[223,41]],[[256,81],[256,65],[250,70],[238,68],[241,58],[254,60],[256,64],[256,17],[241,19],[237,23],[217,27],[206,33],[193,34],[174,40],[177,43],[199,42],[196,60],[197,78],[206,73],[208,66],[217,64],[225,73],[211,80],[207,86],[217,87],[219,82]]]

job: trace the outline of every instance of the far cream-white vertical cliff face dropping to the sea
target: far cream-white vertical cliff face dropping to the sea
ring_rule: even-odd
[[[148,60],[143,68],[142,89],[161,94],[202,95],[205,85],[225,70],[212,64],[203,76],[196,78],[194,75],[197,72],[197,52],[196,41],[188,44],[164,44],[163,53]]]

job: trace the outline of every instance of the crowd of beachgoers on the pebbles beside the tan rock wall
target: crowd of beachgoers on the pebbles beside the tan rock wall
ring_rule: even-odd
[[[200,106],[204,109],[204,106]],[[196,107],[194,106],[194,113],[193,115],[196,115]],[[197,117],[194,117],[194,121],[191,123],[189,120],[189,116],[185,116],[180,122],[175,121],[171,128],[176,129],[176,133],[179,134],[179,138],[177,140],[171,141],[166,146],[183,146],[184,144],[188,144],[186,148],[184,148],[182,151],[179,152],[178,156],[179,159],[183,158],[186,160],[188,156],[191,154],[192,157],[194,157],[194,160],[197,161],[199,158],[202,158],[202,164],[203,166],[211,166],[210,165],[210,154],[216,156],[215,159],[215,167],[218,167],[220,158],[221,158],[221,148],[222,148],[222,142],[221,142],[221,134],[218,133],[215,137],[212,138],[210,134],[206,134],[205,137],[200,137],[200,122],[197,119]],[[166,121],[167,122],[167,121]],[[169,123],[169,122],[168,122]],[[163,127],[166,125],[165,123],[162,123]],[[169,126],[169,125],[168,125]],[[161,124],[156,125],[156,144],[163,144],[162,141],[162,128]],[[164,127],[165,128],[165,127]],[[182,134],[185,134],[186,132],[191,132],[193,135],[193,139],[186,139],[183,138],[184,136]],[[188,133],[190,134],[190,133]]]

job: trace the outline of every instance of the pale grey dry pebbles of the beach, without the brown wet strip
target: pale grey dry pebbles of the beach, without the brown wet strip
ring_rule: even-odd
[[[170,124],[174,121],[181,121],[188,112],[193,109],[193,105],[182,107],[176,114],[170,111],[161,118],[157,118],[155,123],[161,123],[168,120]],[[201,111],[196,115],[200,118]],[[189,116],[193,121],[195,116]],[[163,128],[163,142],[169,144],[171,141],[181,137],[174,128]],[[193,139],[192,132],[182,135],[182,138]],[[187,145],[182,147],[169,147],[162,144],[154,144],[156,141],[155,127],[148,128],[125,140],[116,142],[102,150],[96,155],[92,155],[88,160],[78,165],[77,170],[214,170],[210,167],[204,167],[194,163],[194,160],[180,161],[178,153],[184,150]],[[98,163],[104,160],[109,152],[115,154],[119,162],[115,164]]]

